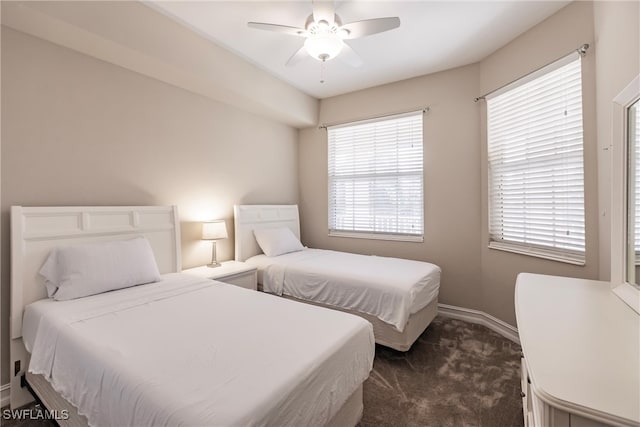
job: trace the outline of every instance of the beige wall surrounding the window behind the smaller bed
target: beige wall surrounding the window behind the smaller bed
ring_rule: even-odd
[[[321,123],[431,108],[424,116],[424,243],[327,235],[326,131],[300,131],[302,239],[306,245],[430,261],[443,269],[440,301],[481,309],[478,66],[321,101]]]

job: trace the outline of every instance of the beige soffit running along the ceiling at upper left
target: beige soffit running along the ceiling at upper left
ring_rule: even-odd
[[[2,24],[227,105],[311,126],[318,100],[140,1],[5,1]]]

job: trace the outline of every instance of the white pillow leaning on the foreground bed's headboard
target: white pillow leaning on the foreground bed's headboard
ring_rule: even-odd
[[[40,269],[58,301],[157,282],[160,272],[143,237],[55,248]]]

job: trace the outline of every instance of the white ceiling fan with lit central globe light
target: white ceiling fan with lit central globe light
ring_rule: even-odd
[[[398,28],[400,18],[365,19],[342,24],[342,20],[335,13],[333,1],[313,1],[313,13],[307,18],[304,28],[264,22],[249,22],[247,25],[259,30],[276,31],[305,38],[304,45],[289,58],[286,65],[294,65],[308,56],[325,62],[342,53],[340,58],[344,62],[353,67],[359,67],[362,65],[362,59],[345,40]]]

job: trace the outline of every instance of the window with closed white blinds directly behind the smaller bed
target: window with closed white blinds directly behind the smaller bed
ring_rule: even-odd
[[[327,129],[329,235],[422,241],[422,115]]]

